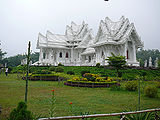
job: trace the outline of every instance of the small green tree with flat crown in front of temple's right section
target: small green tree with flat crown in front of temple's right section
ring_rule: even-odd
[[[118,77],[120,74],[119,70],[122,69],[126,64],[126,57],[121,55],[116,56],[113,53],[111,54],[112,56],[108,57],[107,60],[108,60],[109,66],[114,67],[116,69],[117,77]]]

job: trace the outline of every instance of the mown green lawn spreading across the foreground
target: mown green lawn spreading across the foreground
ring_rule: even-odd
[[[51,90],[55,90],[56,116],[71,115],[69,112],[72,102],[74,112],[113,113],[126,110],[136,110],[138,93],[129,91],[110,91],[109,88],[78,88],[60,85],[52,81],[29,81],[28,109],[36,115],[49,117]],[[24,101],[25,81],[17,74],[0,75],[0,105],[1,119],[5,120],[10,111],[20,101]],[[160,97],[160,89],[158,92]],[[141,109],[158,108],[160,98],[141,96]],[[117,117],[116,117],[117,118]]]

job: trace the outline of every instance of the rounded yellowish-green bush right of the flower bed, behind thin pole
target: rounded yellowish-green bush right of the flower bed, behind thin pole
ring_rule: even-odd
[[[138,88],[138,83],[137,81],[128,81],[125,84],[125,89],[128,91],[136,91]]]

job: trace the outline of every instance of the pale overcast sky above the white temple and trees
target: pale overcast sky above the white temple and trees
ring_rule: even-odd
[[[134,23],[144,49],[160,50],[160,0],[0,0],[0,48],[6,57],[25,54],[38,33],[65,34],[71,21],[85,21],[97,34],[100,20],[118,21],[123,15]]]

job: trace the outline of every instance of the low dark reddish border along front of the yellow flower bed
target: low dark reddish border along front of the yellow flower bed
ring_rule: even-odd
[[[90,87],[90,88],[98,88],[98,87],[110,87],[112,85],[118,85],[117,82],[108,82],[108,83],[98,83],[98,82],[72,82],[67,81],[64,83],[64,85],[67,86],[73,86],[73,87]]]

